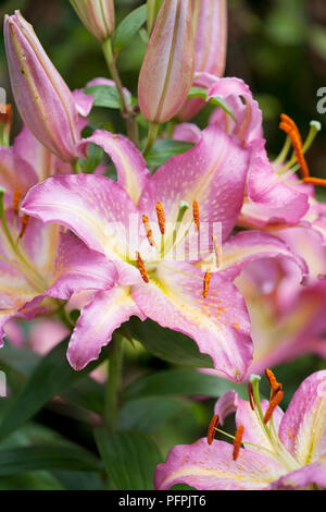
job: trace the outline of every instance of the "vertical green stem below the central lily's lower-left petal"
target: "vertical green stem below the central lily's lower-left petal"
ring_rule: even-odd
[[[118,411],[118,390],[122,381],[123,365],[123,339],[118,334],[113,334],[109,349],[104,422],[111,428],[116,427]]]

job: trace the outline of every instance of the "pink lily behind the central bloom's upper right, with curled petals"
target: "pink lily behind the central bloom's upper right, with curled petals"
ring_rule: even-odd
[[[222,98],[235,118],[217,108],[210,123],[217,124],[225,133],[237,137],[250,151],[244,202],[238,224],[261,229],[269,224],[293,225],[299,222],[309,210],[310,187],[297,186],[297,176],[293,175],[297,158],[291,159],[290,167],[284,162],[290,149],[289,142],[287,141],[285,146],[287,153],[283,150],[272,163],[265,149],[266,141],[263,138],[262,112],[248,85],[239,78],[217,78],[208,73],[202,73],[199,80],[202,81],[202,86],[208,88],[208,101],[213,97]],[[180,130],[183,129],[178,129],[177,138],[180,138]],[[186,141],[187,134],[190,137],[193,135],[189,127],[181,132]],[[312,139],[313,133],[308,137],[308,146]]]

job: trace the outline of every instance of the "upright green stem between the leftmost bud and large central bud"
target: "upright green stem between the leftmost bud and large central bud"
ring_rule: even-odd
[[[126,119],[128,138],[133,141],[133,143],[136,144],[137,147],[139,147],[139,136],[138,136],[136,114],[133,110],[133,107],[127,101],[124,87],[123,87],[117,68],[115,65],[115,58],[113,56],[110,37],[102,44],[102,49],[103,49],[104,58],[105,58],[110,74],[115,82],[116,89],[121,97],[121,101],[123,106],[123,115]]]

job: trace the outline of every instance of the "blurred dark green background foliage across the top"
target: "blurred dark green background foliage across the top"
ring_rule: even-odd
[[[117,22],[141,3],[115,1]],[[326,114],[316,110],[317,90],[326,87],[325,0],[229,0],[228,3],[226,75],[243,78],[260,101],[269,154],[277,154],[283,144],[284,136],[278,130],[281,112],[296,120],[303,136],[309,122],[317,119],[323,132],[308,161],[313,175],[326,178]],[[15,9],[21,9],[34,25],[71,88],[106,75],[98,42],[82,26],[68,0],[2,0],[1,20]],[[9,90],[2,38],[0,48],[0,86]],[[118,58],[123,82],[133,93],[137,90],[143,52],[145,44],[137,36]],[[208,111],[201,113],[197,119],[199,124],[204,125],[206,117]]]

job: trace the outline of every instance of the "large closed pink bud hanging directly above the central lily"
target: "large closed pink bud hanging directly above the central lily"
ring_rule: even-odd
[[[138,97],[152,123],[172,119],[185,102],[195,73],[191,0],[164,0],[140,70]]]

